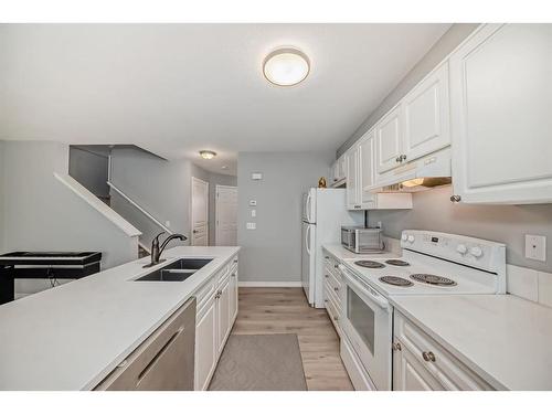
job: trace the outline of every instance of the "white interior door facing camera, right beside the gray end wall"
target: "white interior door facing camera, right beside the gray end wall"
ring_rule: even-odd
[[[237,245],[237,187],[216,185],[215,244]]]

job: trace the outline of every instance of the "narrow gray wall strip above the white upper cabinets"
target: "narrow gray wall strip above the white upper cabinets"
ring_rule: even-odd
[[[399,85],[383,99],[381,105],[361,124],[357,131],[341,146],[337,156],[341,156],[360,137],[362,137],[388,110],[396,105],[406,93],[427,75],[440,61],[460,44],[479,24],[459,23],[453,26],[440,38],[424,57],[412,68]]]

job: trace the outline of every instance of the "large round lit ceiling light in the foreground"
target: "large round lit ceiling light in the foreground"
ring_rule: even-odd
[[[295,47],[279,47],[263,62],[266,79],[278,86],[293,86],[304,81],[310,72],[308,56]]]

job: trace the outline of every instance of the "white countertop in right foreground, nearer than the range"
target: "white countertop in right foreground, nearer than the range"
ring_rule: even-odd
[[[493,388],[552,390],[552,308],[511,295],[390,300]]]

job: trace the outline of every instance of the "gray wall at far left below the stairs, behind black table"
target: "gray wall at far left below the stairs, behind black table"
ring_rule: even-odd
[[[136,237],[54,178],[54,172],[68,171],[66,145],[6,141],[3,151],[4,250],[99,251],[103,268],[137,258]]]

